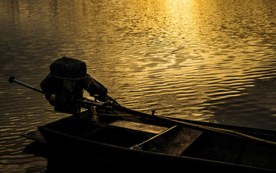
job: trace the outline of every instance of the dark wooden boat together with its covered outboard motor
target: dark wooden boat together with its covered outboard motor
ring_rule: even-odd
[[[85,62],[72,58],[56,60],[50,71],[41,82],[42,91],[14,77],[9,79],[46,94],[56,111],[75,114],[26,134],[46,143],[48,167],[57,163],[62,172],[95,165],[147,171],[191,167],[213,172],[276,171],[275,131],[176,120],[121,107],[86,73]],[[106,102],[81,98],[83,89]],[[88,111],[79,113],[80,107]]]

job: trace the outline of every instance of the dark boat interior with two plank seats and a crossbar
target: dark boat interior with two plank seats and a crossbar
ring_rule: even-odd
[[[177,125],[160,127],[128,120],[115,120],[106,124],[68,117],[46,127],[99,143],[148,152],[258,167],[275,165],[272,164],[275,163],[275,149],[262,147],[262,143]],[[254,150],[257,145],[259,149]]]

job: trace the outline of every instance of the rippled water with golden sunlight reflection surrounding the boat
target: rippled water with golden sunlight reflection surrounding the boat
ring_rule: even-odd
[[[67,115],[39,87],[67,56],[126,107],[276,130],[274,0],[1,0],[0,170],[44,172],[21,134]]]

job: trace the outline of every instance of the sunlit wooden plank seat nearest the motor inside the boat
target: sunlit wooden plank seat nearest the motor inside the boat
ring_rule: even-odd
[[[150,134],[160,134],[162,131],[165,131],[166,129],[168,129],[167,127],[148,125],[148,124],[132,122],[128,120],[117,120],[115,122],[110,123],[110,125],[116,126],[116,127],[123,127],[126,129],[137,130],[137,131],[144,131]]]

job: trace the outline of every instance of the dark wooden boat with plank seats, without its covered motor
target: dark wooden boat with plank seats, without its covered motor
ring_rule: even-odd
[[[119,104],[79,101],[93,104],[99,120],[87,120],[86,111],[82,118],[63,118],[38,127],[40,134],[26,135],[47,143],[64,167],[101,163],[119,170],[276,171],[276,131],[172,120]]]

